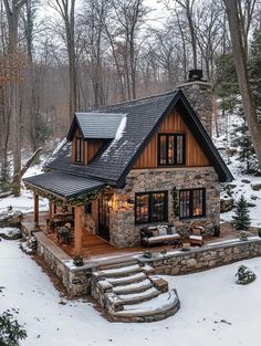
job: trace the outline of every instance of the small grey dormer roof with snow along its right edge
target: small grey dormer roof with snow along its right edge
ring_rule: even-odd
[[[67,139],[72,140],[79,127],[84,138],[113,139],[126,114],[114,113],[75,113]]]

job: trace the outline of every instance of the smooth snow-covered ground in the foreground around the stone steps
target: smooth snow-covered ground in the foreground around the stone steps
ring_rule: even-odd
[[[258,275],[240,286],[240,263]],[[108,323],[91,303],[61,297],[18,242],[0,242],[0,313],[18,308],[28,338],[22,346],[255,346],[260,342],[261,259],[184,276],[165,276],[181,302],[173,317],[152,324]],[[64,301],[64,300],[63,300]]]

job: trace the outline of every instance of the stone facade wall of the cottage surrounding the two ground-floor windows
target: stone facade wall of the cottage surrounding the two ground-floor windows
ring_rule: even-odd
[[[179,218],[174,214],[174,188],[177,190],[206,188],[206,217],[179,221]],[[140,228],[144,226],[135,224],[135,193],[166,190],[168,191],[168,222],[175,224],[180,233],[187,233],[191,222],[198,222],[207,230],[219,226],[220,185],[212,167],[134,169],[127,176],[125,188],[115,190],[113,197],[109,235],[114,247],[128,248],[140,244]]]

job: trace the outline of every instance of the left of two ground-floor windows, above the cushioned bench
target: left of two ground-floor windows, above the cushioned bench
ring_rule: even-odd
[[[137,193],[135,199],[136,223],[168,220],[168,192]]]

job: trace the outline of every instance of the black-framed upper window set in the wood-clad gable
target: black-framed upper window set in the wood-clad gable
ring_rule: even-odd
[[[158,135],[158,165],[173,166],[186,164],[186,135]]]

